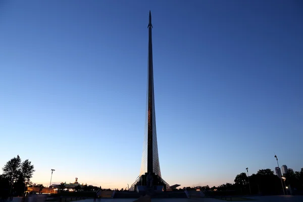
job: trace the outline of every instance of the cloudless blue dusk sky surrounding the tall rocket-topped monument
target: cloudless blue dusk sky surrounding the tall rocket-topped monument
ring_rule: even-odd
[[[33,182],[122,188],[139,175],[153,21],[160,166],[220,185],[303,167],[300,1],[1,1],[0,165]]]

